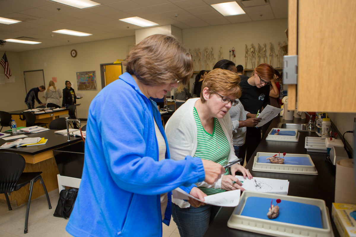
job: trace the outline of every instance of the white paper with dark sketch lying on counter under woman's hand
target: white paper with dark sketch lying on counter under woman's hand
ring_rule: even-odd
[[[270,179],[253,177],[245,179],[244,176],[236,175],[242,183],[242,188],[248,191],[256,191],[261,193],[275,193],[281,195],[288,194],[289,181],[286,179]]]

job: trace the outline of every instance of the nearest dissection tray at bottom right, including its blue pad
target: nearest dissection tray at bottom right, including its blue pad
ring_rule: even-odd
[[[271,200],[276,205],[276,199],[281,199],[279,216],[271,220],[267,212]],[[242,193],[227,226],[270,236],[334,237],[324,200],[253,191]]]

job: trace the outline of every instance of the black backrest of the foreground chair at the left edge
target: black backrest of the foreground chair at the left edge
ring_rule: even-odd
[[[0,152],[0,164],[0,193],[10,193],[25,169],[25,159],[16,153]]]

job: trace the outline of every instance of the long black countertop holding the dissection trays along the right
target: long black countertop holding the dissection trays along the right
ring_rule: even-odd
[[[268,132],[272,128],[276,128],[278,122],[282,122],[282,119],[277,117],[272,120],[267,133],[262,138],[260,144],[257,146],[256,151],[253,153],[252,157],[248,161],[246,168],[249,169],[252,176],[263,177],[263,178],[275,178],[275,179],[288,179],[289,181],[289,196],[301,196],[305,198],[316,198],[325,200],[325,204],[329,209],[331,226],[335,237],[340,237],[339,232],[337,232],[334,221],[331,219],[331,205],[334,201],[335,196],[335,174],[336,167],[326,162],[326,153],[319,152],[308,152],[304,148],[305,137],[307,136],[317,136],[315,132],[311,131],[299,131],[299,141],[298,142],[288,142],[288,141],[269,141],[266,140]],[[284,122],[284,121],[283,121]],[[286,121],[291,123],[292,121]],[[300,119],[294,118],[294,123],[303,123]],[[308,122],[308,121],[306,121]],[[318,171],[318,175],[305,175],[305,174],[285,174],[285,173],[269,173],[269,172],[255,172],[252,171],[252,165],[254,157],[257,152],[272,152],[278,154],[278,152],[286,153],[296,153],[296,154],[308,154],[313,160],[313,163]],[[210,223],[208,230],[205,232],[204,237],[215,237],[215,236],[238,236],[238,237],[262,237],[268,236],[248,231],[236,230],[227,227],[227,221],[229,220],[231,214],[233,213],[235,207],[222,207],[220,208],[218,214],[216,214],[213,222]],[[266,207],[266,210],[268,207]],[[266,211],[267,214],[267,211]]]

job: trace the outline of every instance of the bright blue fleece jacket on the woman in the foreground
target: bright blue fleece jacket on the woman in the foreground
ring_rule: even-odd
[[[170,191],[205,177],[199,158],[169,159],[156,103],[130,74],[119,78],[89,107],[82,181],[66,227],[73,236],[162,236],[159,195],[168,192],[163,222],[169,225]],[[162,161],[153,119],[166,140]]]

